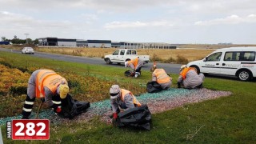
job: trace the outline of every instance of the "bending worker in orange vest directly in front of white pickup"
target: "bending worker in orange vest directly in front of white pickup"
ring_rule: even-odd
[[[135,78],[137,78],[138,75],[141,74],[141,69],[143,64],[144,64],[144,61],[142,61],[140,58],[134,58],[131,61],[125,62],[125,66],[130,66],[130,68],[134,70]]]

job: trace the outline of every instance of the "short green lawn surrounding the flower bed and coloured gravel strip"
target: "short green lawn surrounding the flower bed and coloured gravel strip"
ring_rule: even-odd
[[[63,74],[73,71],[79,76],[86,74],[87,70],[103,79],[118,81],[122,86],[129,85],[126,88],[130,90],[136,90],[139,84],[150,80],[149,71],[143,71],[141,78],[129,79],[123,76],[125,68],[60,62],[3,52],[0,52],[0,58],[12,66],[24,66],[28,70],[33,67],[53,68]],[[26,61],[30,64],[27,65]],[[172,77],[173,83],[177,83],[178,74],[172,74]],[[31,143],[256,143],[256,82],[206,78],[204,86],[210,90],[231,91],[232,94],[153,114],[150,131],[116,128],[95,117],[89,122],[69,121],[58,126],[51,125],[49,141]],[[2,126],[2,134],[6,134],[6,126]],[[5,136],[3,141],[15,143]]]

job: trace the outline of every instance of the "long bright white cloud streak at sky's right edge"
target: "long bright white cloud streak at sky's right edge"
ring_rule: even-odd
[[[198,21],[194,22],[197,26],[211,26],[211,25],[221,25],[221,24],[238,24],[238,23],[254,23],[256,22],[256,15],[250,14],[247,17],[239,17],[238,15],[230,15],[226,18],[216,18],[208,21]]]

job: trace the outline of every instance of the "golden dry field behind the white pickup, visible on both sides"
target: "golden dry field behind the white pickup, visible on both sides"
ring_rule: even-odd
[[[106,54],[112,54],[115,48],[37,48],[37,51],[46,53],[57,53],[57,54],[70,54],[84,57],[96,57],[104,58]],[[194,61],[206,57],[214,50],[188,50],[188,49],[176,49],[176,50],[158,50],[158,49],[139,49],[138,54],[150,55],[150,58],[156,58],[157,61],[164,61],[170,58],[176,59],[178,55],[187,58],[188,61]],[[153,59],[151,59],[153,60]]]

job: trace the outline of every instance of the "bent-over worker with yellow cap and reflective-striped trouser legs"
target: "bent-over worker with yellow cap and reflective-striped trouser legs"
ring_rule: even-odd
[[[66,79],[53,70],[35,70],[28,81],[27,96],[22,109],[22,119],[28,119],[35,98],[45,98],[45,102],[55,113],[62,111],[61,98],[66,98],[69,86]]]

